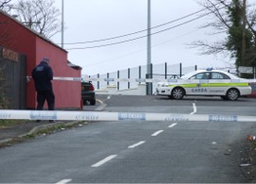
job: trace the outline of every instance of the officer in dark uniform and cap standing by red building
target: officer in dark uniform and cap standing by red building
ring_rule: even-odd
[[[55,95],[52,90],[51,80],[53,79],[52,69],[49,66],[49,59],[43,59],[32,70],[32,78],[34,79],[35,89],[37,92],[37,109],[44,108],[45,101],[49,110],[54,110]],[[40,122],[40,120],[37,120]],[[50,120],[49,122],[55,122]]]

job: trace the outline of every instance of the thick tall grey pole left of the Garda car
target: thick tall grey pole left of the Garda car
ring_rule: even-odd
[[[151,0],[148,0],[148,46],[147,46],[147,78],[152,77],[151,71]],[[152,83],[147,83],[147,94],[152,94]]]

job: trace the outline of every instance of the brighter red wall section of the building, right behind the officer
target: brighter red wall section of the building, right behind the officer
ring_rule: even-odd
[[[36,53],[36,64],[43,58],[50,59],[49,65],[52,67],[54,76],[81,77],[81,70],[75,70],[67,65],[67,53],[59,47],[51,45],[40,38],[36,38]],[[56,108],[80,108],[80,81],[54,80],[53,90],[56,98]]]

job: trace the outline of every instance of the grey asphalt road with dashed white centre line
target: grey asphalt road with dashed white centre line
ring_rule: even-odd
[[[84,110],[255,115],[256,99],[99,95]],[[0,150],[1,183],[238,183],[256,123],[91,122]]]

